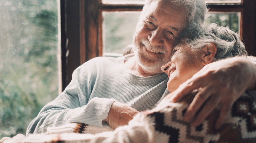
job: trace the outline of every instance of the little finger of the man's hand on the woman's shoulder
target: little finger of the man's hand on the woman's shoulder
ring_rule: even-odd
[[[226,103],[222,109],[220,116],[218,117],[216,123],[215,123],[215,129],[220,129],[220,127],[223,125],[228,113],[231,111],[232,103]]]

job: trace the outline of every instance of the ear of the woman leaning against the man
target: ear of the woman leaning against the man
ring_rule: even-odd
[[[202,64],[205,66],[211,63],[217,52],[217,46],[214,43],[210,43],[204,46],[202,54]]]

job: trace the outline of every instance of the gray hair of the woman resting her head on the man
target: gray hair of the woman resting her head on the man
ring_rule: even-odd
[[[186,32],[182,33],[177,41],[177,44],[188,45],[194,51],[200,51],[205,45],[214,43],[217,46],[215,55],[217,60],[247,55],[240,36],[217,24],[209,24],[201,29],[198,27],[186,29]]]

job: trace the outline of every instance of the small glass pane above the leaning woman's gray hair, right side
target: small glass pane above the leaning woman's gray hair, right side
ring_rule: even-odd
[[[216,23],[240,34],[240,15],[241,12],[209,12],[204,24]]]

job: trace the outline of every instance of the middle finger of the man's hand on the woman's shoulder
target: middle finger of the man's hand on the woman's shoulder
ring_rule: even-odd
[[[207,91],[207,92],[206,92]],[[211,92],[208,88],[202,88],[194,97],[192,103],[190,103],[187,111],[184,115],[185,121],[191,121],[198,109],[203,105],[203,103],[209,98]]]

